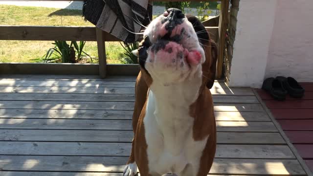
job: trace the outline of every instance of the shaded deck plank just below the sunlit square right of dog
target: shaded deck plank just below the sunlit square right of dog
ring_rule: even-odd
[[[0,130],[0,141],[131,142],[133,131]],[[219,144],[286,144],[278,132],[217,132]]]

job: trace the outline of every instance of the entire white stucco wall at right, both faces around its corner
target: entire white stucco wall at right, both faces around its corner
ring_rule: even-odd
[[[241,0],[237,20],[229,86],[313,82],[313,0]]]

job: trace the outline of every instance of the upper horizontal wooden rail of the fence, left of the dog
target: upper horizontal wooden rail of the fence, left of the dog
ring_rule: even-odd
[[[103,33],[106,41],[120,41]],[[1,26],[0,40],[28,41],[97,41],[95,27]]]

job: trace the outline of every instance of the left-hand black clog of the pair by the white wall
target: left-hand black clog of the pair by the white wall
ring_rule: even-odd
[[[283,101],[286,99],[287,90],[276,78],[267,78],[263,82],[262,89],[266,90],[274,99]]]

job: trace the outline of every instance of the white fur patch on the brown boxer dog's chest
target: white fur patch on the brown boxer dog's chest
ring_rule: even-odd
[[[149,170],[160,175],[196,175],[207,138],[193,139],[194,118],[188,109],[171,106],[171,103],[163,105],[156,102],[150,91],[144,117]]]

